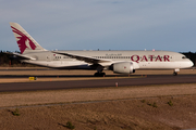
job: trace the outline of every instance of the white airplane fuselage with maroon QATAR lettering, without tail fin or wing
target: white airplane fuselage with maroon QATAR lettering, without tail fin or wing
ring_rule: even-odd
[[[105,69],[108,69],[113,63],[132,62],[134,69],[180,69],[192,67],[193,63],[185,55],[170,51],[58,51],[82,56],[88,56],[108,62],[99,63]],[[27,53],[27,56],[35,60],[25,60],[23,62],[64,69],[90,69],[90,63],[76,60],[66,55],[42,51]]]

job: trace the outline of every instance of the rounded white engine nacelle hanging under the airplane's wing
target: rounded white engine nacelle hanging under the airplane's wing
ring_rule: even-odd
[[[114,63],[110,67],[113,73],[118,74],[132,74],[135,73],[134,65],[132,62],[120,62],[120,63]]]

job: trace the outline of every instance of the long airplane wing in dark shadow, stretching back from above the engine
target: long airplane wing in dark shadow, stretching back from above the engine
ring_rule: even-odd
[[[76,58],[78,61],[84,61],[89,64],[110,63],[111,62],[110,60],[100,60],[100,58],[94,58],[90,56],[76,55],[76,54],[71,54],[71,53],[62,53],[62,52],[56,52],[56,51],[52,51],[52,53],[66,55],[69,57]]]

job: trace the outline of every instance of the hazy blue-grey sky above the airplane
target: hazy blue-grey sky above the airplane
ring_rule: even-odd
[[[196,0],[0,0],[0,50],[19,51],[9,22],[47,50],[196,52]]]

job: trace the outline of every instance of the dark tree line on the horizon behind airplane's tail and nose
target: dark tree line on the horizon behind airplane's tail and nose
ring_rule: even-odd
[[[29,65],[26,63],[21,63],[19,60],[14,58],[13,55],[9,54],[9,51],[0,51],[0,66],[1,67],[35,67],[36,65]],[[15,53],[20,53],[15,51]],[[186,55],[189,58],[194,66],[196,66],[196,52],[181,52],[182,54]]]

